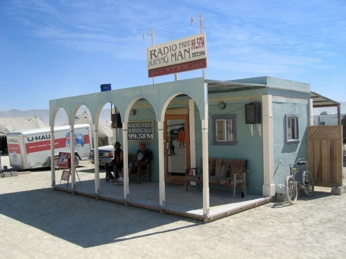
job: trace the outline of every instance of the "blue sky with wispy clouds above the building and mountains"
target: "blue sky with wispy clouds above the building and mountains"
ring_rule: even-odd
[[[150,84],[142,34],[154,28],[154,44],[198,34],[199,13],[207,79],[268,75],[346,101],[346,0],[0,0],[0,111]]]

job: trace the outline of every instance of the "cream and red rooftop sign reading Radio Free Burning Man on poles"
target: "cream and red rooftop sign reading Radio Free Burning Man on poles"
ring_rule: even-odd
[[[147,48],[148,77],[206,67],[205,33]]]

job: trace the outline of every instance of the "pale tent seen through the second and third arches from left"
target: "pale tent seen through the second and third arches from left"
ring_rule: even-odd
[[[94,126],[92,124],[91,115],[87,111],[82,112],[80,115],[75,118],[76,124],[89,124],[91,129],[92,136],[92,146],[93,146],[93,130]],[[113,144],[113,131],[110,126],[104,124],[98,124],[98,146],[107,146]]]

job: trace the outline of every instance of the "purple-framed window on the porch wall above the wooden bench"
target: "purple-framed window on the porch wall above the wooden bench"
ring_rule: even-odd
[[[236,144],[236,117],[235,114],[212,116],[214,145]]]

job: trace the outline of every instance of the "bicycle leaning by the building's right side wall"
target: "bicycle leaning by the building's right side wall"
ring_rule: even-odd
[[[300,191],[304,191],[307,196],[311,196],[314,191],[315,184],[313,182],[312,174],[309,171],[303,171],[301,166],[306,165],[306,161],[304,158],[298,159],[294,164],[284,164],[280,162],[280,164],[284,166],[290,166],[290,175],[286,177],[285,181],[285,191],[287,200],[294,204],[297,201],[298,197],[298,189]],[[293,165],[299,165],[300,168],[292,168]],[[297,180],[296,175],[300,173],[301,181]]]

